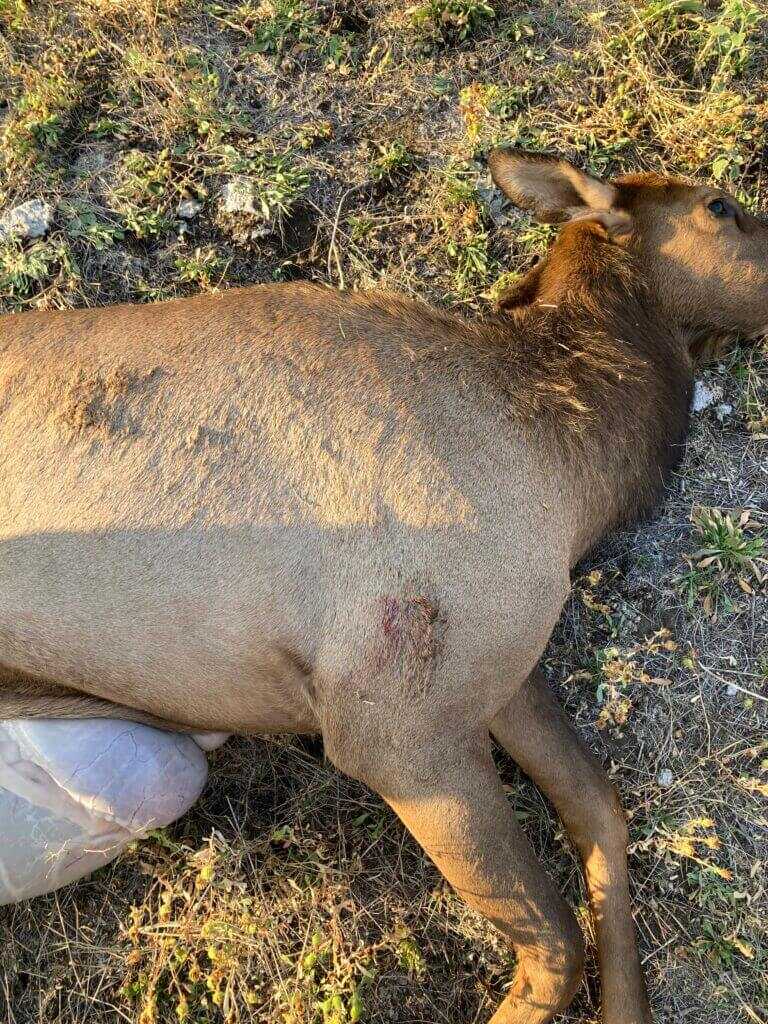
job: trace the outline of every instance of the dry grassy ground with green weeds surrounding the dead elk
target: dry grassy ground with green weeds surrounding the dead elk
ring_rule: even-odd
[[[765,209],[766,53],[748,0],[0,0],[0,210],[55,206],[48,237],[0,245],[0,309],[306,279],[482,314],[551,236],[489,188],[488,145]],[[223,209],[232,181],[252,212]],[[702,376],[731,411],[695,418],[659,514],[579,567],[545,668],[630,813],[658,1020],[765,1024],[768,349]],[[0,910],[2,1024],[489,1014],[508,951],[319,743],[211,762],[182,821]],[[499,768],[589,935],[559,823]],[[589,978],[563,1021],[597,1020]]]

